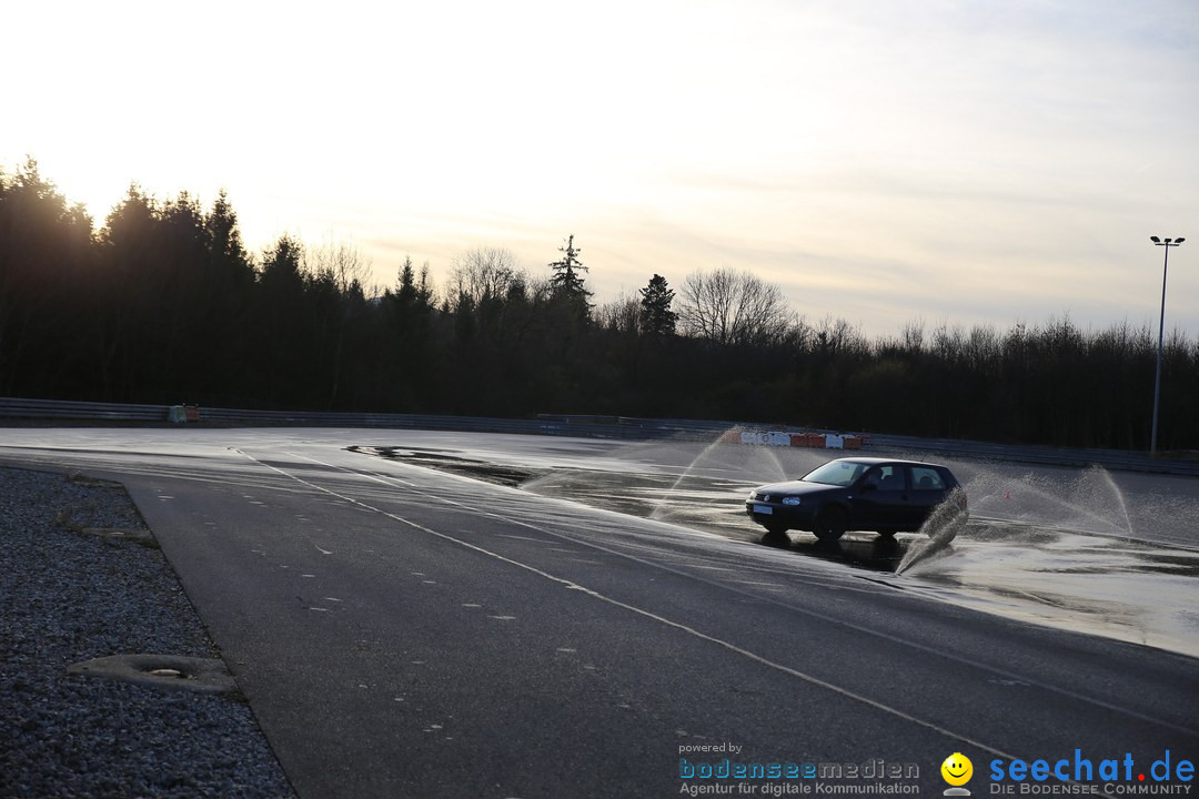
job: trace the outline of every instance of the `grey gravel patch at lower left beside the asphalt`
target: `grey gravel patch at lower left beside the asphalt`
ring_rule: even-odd
[[[294,797],[249,707],[67,666],[219,658],[125,490],[0,468],[0,797]]]

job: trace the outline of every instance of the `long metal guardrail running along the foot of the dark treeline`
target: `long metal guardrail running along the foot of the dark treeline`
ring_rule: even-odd
[[[165,424],[170,405],[127,405],[116,402],[71,402],[58,400],[0,398],[0,419],[50,422],[157,422]],[[518,435],[577,436],[591,438],[650,440],[675,438],[715,442],[729,430],[775,431],[760,424],[698,420],[645,419],[622,416],[542,414],[532,419],[505,419],[420,413],[339,413],[315,411],[257,411],[199,408],[206,424],[293,425],[325,428],[396,428],[408,430],[463,430]],[[832,430],[788,430],[787,432],[842,435]],[[1119,449],[1081,449],[994,444],[977,441],[916,438],[869,434],[862,454],[928,453],[939,458],[969,458],[1058,466],[1099,465],[1104,468],[1157,472],[1199,477],[1199,459],[1157,458]]]

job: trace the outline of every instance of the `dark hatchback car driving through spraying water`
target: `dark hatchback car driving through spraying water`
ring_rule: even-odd
[[[837,540],[851,529],[880,535],[917,531],[942,503],[950,503],[956,521],[965,520],[965,492],[945,466],[840,458],[797,480],[758,486],[746,500],[746,513],[769,534],[801,529]]]

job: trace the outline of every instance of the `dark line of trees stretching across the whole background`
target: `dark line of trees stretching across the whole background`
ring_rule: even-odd
[[[0,395],[1149,447],[1145,326],[914,322],[870,340],[731,270],[597,305],[582,255],[572,237],[536,276],[476,249],[440,287],[409,261],[376,290],[353,247],[283,236],[251,254],[224,194],[205,210],[132,187],[95,231],[30,161],[0,171]],[[1199,448],[1199,341],[1168,338],[1162,385],[1158,447]]]

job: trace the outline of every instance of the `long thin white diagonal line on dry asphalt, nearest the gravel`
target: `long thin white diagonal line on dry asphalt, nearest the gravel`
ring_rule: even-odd
[[[327,468],[339,468],[339,467],[333,466],[331,464],[325,464],[325,462],[315,460],[313,458],[307,458],[306,455],[299,455],[299,454],[295,454],[295,453],[288,453],[288,454],[290,454],[290,455],[293,455],[295,458],[303,458],[305,460],[309,460],[309,461],[313,461],[315,464],[320,464],[321,466],[325,466]],[[293,480],[296,480],[297,483],[302,483],[302,484],[305,484],[305,485],[307,485],[307,486],[309,486],[309,488],[312,488],[312,489],[314,489],[317,491],[320,491],[323,494],[327,494],[330,496],[338,497],[341,500],[344,500],[345,502],[350,502],[350,503],[356,504],[356,506],[359,506],[359,507],[361,507],[363,509],[372,510],[372,512],[374,512],[374,513],[376,513],[376,514],[379,514],[381,516],[386,516],[387,519],[392,519],[394,521],[398,521],[402,525],[406,525],[406,526],[409,526],[409,527],[411,527],[414,529],[418,529],[418,531],[421,531],[423,533],[427,533],[429,535],[433,535],[435,538],[440,538],[442,540],[451,541],[453,544],[457,544],[457,545],[459,545],[462,547],[465,547],[468,550],[471,550],[474,552],[478,552],[480,555],[484,555],[487,557],[494,558],[494,559],[496,559],[496,561],[499,561],[501,563],[507,563],[510,565],[517,567],[518,569],[524,569],[525,571],[529,571],[531,574],[538,575],[538,576],[541,576],[541,577],[543,577],[543,579],[546,579],[546,580],[548,580],[550,582],[556,582],[558,585],[564,586],[566,588],[570,588],[570,589],[573,589],[573,591],[582,591],[586,595],[589,595],[589,597],[591,597],[591,598],[594,598],[594,599],[596,599],[598,601],[607,603],[609,605],[613,605],[614,607],[620,607],[620,609],[627,610],[627,611],[629,611],[632,613],[635,613],[638,616],[643,616],[645,618],[649,618],[649,619],[651,619],[653,622],[657,622],[657,623],[663,624],[665,627],[669,627],[671,629],[680,630],[681,632],[685,632],[686,635],[691,635],[691,636],[693,636],[695,638],[699,638],[700,641],[707,641],[709,643],[713,643],[713,644],[716,644],[718,647],[728,649],[729,652],[733,652],[733,653],[739,654],[739,655],[741,655],[743,658],[747,658],[748,660],[752,660],[752,661],[754,661],[757,664],[766,666],[767,668],[773,668],[773,670],[779,671],[779,672],[782,672],[784,674],[790,674],[791,677],[795,677],[796,679],[801,679],[805,683],[808,683],[811,685],[815,685],[815,686],[823,688],[823,689],[825,689],[827,691],[832,691],[833,694],[837,694],[838,696],[843,696],[843,697],[845,697],[848,700],[851,700],[854,702],[858,702],[858,703],[864,704],[867,707],[874,708],[874,709],[880,710],[880,712],[882,712],[882,713],[885,713],[887,715],[896,716],[897,719],[902,719],[904,721],[909,721],[909,722],[915,724],[915,725],[917,725],[920,727],[923,727],[926,730],[930,730],[930,731],[933,731],[933,732],[935,732],[935,733],[938,733],[940,736],[945,736],[946,738],[951,738],[953,740],[958,740],[958,742],[962,742],[964,744],[969,744],[970,746],[974,746],[976,749],[981,749],[981,750],[983,750],[986,752],[990,752],[992,755],[996,755],[996,756],[1002,757],[1002,758],[1008,759],[1008,761],[1017,759],[1014,755],[1010,755],[1010,753],[1007,753],[1007,752],[1005,752],[1002,750],[995,749],[994,746],[988,746],[987,744],[983,744],[982,742],[974,740],[972,738],[969,738],[969,737],[966,737],[966,736],[964,736],[962,733],[953,732],[952,730],[947,730],[945,727],[941,727],[940,725],[933,724],[932,721],[924,721],[923,719],[917,719],[916,716],[911,715],[910,713],[905,713],[905,712],[900,710],[899,708],[893,708],[890,704],[885,704],[885,703],[879,702],[876,700],[872,700],[872,698],[869,698],[867,696],[862,696],[861,694],[856,694],[856,692],[850,691],[848,689],[840,688],[839,685],[835,685],[835,684],[832,684],[832,683],[830,683],[827,680],[820,679],[819,677],[813,677],[812,674],[807,674],[805,672],[801,672],[797,668],[791,668],[790,666],[785,666],[783,664],[775,662],[775,661],[772,661],[772,660],[770,660],[767,658],[764,658],[763,655],[759,655],[757,653],[753,653],[753,652],[751,652],[751,650],[748,650],[748,649],[746,649],[743,647],[739,647],[735,643],[731,643],[729,641],[724,641],[723,638],[718,638],[718,637],[716,637],[713,635],[709,635],[706,632],[697,630],[695,628],[689,627],[687,624],[683,624],[681,622],[674,622],[671,619],[665,618],[664,616],[659,616],[657,613],[653,613],[651,611],[644,610],[641,607],[637,607],[635,605],[629,605],[628,603],[623,603],[623,601],[621,601],[619,599],[614,599],[611,597],[607,597],[604,594],[601,594],[598,591],[594,591],[591,588],[586,588],[585,586],[580,586],[580,585],[578,585],[578,583],[576,583],[576,582],[573,582],[571,580],[566,580],[564,577],[555,576],[555,575],[553,575],[553,574],[550,574],[548,571],[538,569],[537,567],[530,565],[528,563],[522,563],[519,561],[514,561],[514,559],[512,559],[510,557],[500,555],[499,552],[493,552],[493,551],[483,549],[482,546],[478,546],[476,544],[471,544],[471,543],[464,541],[464,540],[462,540],[459,538],[454,538],[453,535],[450,535],[447,533],[439,533],[438,531],[432,529],[430,527],[426,527],[424,525],[420,525],[420,523],[417,523],[417,522],[415,522],[415,521],[412,521],[410,519],[404,519],[403,516],[398,516],[398,515],[396,515],[393,513],[384,510],[382,508],[375,508],[373,506],[369,506],[369,504],[367,504],[364,502],[361,502],[359,500],[355,500],[353,497],[345,496],[343,494],[338,494],[338,492],[333,491],[332,489],[326,489],[326,488],[317,485],[314,483],[309,483],[308,480],[305,480],[301,477],[296,477],[295,474],[290,474],[288,472],[284,472],[283,470],[281,470],[281,468],[278,468],[276,466],[271,466],[270,464],[264,464],[263,461],[259,461],[258,459],[255,459],[253,455],[246,454],[246,458],[253,460],[254,462],[259,464],[260,466],[265,466],[266,468],[270,468],[270,470],[272,470],[275,472],[278,472],[279,474],[283,474],[284,477],[290,477]],[[350,470],[339,470],[339,471],[350,472]],[[357,472],[350,472],[350,473],[359,474]],[[376,480],[379,480],[379,478],[373,478],[369,474],[360,474],[360,477],[366,477],[367,479],[376,479]],[[381,480],[379,480],[379,482],[381,482]],[[495,618],[500,618],[500,617],[495,617]],[[594,666],[592,666],[592,668],[594,668]]]

